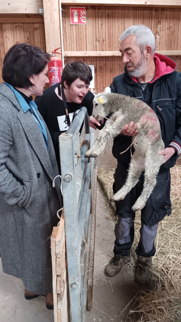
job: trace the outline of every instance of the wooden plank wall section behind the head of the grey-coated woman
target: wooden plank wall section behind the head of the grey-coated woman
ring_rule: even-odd
[[[42,15],[0,14],[0,82],[5,53],[15,43],[31,43],[46,50]]]

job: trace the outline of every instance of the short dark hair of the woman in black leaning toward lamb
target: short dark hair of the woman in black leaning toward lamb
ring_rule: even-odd
[[[64,81],[67,83],[68,88],[73,83],[73,81],[80,78],[81,81],[85,81],[89,84],[92,81],[92,71],[91,68],[84,62],[68,62],[62,71],[61,86],[65,88]]]

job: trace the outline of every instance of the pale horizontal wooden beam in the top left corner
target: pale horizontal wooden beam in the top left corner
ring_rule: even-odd
[[[40,14],[39,8],[43,8],[42,0],[13,0],[0,1],[1,14]],[[1,19],[0,19],[1,22]]]

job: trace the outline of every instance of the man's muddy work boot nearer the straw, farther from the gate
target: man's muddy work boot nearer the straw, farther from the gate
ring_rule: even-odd
[[[151,267],[152,267],[151,257],[144,257],[141,255],[138,255],[135,283],[141,284],[141,285],[148,283],[152,275]]]

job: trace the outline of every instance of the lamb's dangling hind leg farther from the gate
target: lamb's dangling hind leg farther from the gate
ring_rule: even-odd
[[[142,209],[145,206],[150,194],[153,191],[154,186],[156,185],[156,176],[158,174],[161,164],[163,163],[163,160],[164,156],[160,156],[158,154],[158,151],[148,151],[145,158],[145,177],[143,190],[140,197],[132,206],[133,211]]]

